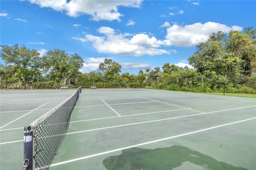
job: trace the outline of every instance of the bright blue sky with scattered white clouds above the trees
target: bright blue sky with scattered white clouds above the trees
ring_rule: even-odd
[[[112,58],[135,75],[164,63],[188,65],[212,32],[256,26],[256,1],[1,0],[0,13],[1,45],[76,52],[83,72]]]

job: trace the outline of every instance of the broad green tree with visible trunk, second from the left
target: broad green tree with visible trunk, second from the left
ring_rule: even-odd
[[[75,53],[69,56],[64,50],[50,50],[42,58],[44,62],[44,70],[50,77],[61,77],[64,79],[64,84],[70,77],[76,77],[79,74],[79,69],[83,66],[83,59]]]

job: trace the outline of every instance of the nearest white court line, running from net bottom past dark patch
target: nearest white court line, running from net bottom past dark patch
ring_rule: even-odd
[[[170,137],[162,138],[162,139],[158,139],[158,140],[152,140],[152,141],[150,141],[150,142],[144,142],[144,143],[135,144],[135,145],[132,145],[132,146],[126,146],[126,147],[124,147],[124,148],[118,148],[118,149],[114,149],[114,150],[109,150],[109,151],[106,151],[106,152],[101,152],[101,153],[98,153],[98,154],[93,154],[93,155],[89,155],[89,156],[84,156],[84,157],[80,157],[80,158],[76,158],[76,159],[72,159],[72,160],[67,160],[67,161],[63,161],[63,162],[58,162],[58,163],[56,163],[56,164],[52,164],[51,167],[52,167],[52,166],[61,165],[61,164],[66,164],[66,163],[69,163],[69,162],[74,162],[74,161],[77,161],[77,160],[82,160],[82,159],[86,159],[86,158],[91,158],[91,157],[94,157],[94,156],[99,156],[99,155],[103,155],[103,154],[108,154],[108,153],[111,153],[111,152],[116,152],[116,151],[120,151],[120,150],[124,150],[124,149],[128,149],[128,148],[138,147],[138,146],[142,146],[142,145],[145,145],[145,144],[151,144],[151,143],[154,143],[154,142],[160,142],[160,141],[163,141],[163,140],[168,140],[168,139],[172,139],[172,138],[177,138],[177,137],[180,137],[180,136],[186,136],[186,135],[188,135],[188,134],[194,134],[194,133],[198,133],[198,132],[202,132],[202,131],[206,131],[206,130],[211,130],[211,129],[218,128],[218,127],[224,127],[224,126],[232,125],[232,124],[235,124],[235,123],[240,123],[240,122],[244,122],[244,121],[250,121],[250,120],[252,120],[252,119],[256,119],[256,117],[251,118],[251,119],[242,120],[242,121],[227,123],[227,124],[219,125],[219,126],[215,126],[215,127],[210,127],[210,128],[205,128],[205,129],[201,129],[201,130],[196,130],[196,131],[188,132],[188,133],[184,133],[184,134],[179,134],[179,135],[176,135],[176,136],[170,136]]]

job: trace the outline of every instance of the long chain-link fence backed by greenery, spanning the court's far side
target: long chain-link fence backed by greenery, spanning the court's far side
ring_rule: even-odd
[[[256,71],[223,74],[128,79],[91,77],[0,77],[0,89],[146,88],[199,93],[256,94]]]

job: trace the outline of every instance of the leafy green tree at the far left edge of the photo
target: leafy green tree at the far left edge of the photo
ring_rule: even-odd
[[[19,44],[1,45],[0,57],[6,64],[2,67],[7,76],[20,77],[25,82],[42,73],[42,59],[36,49]]]

